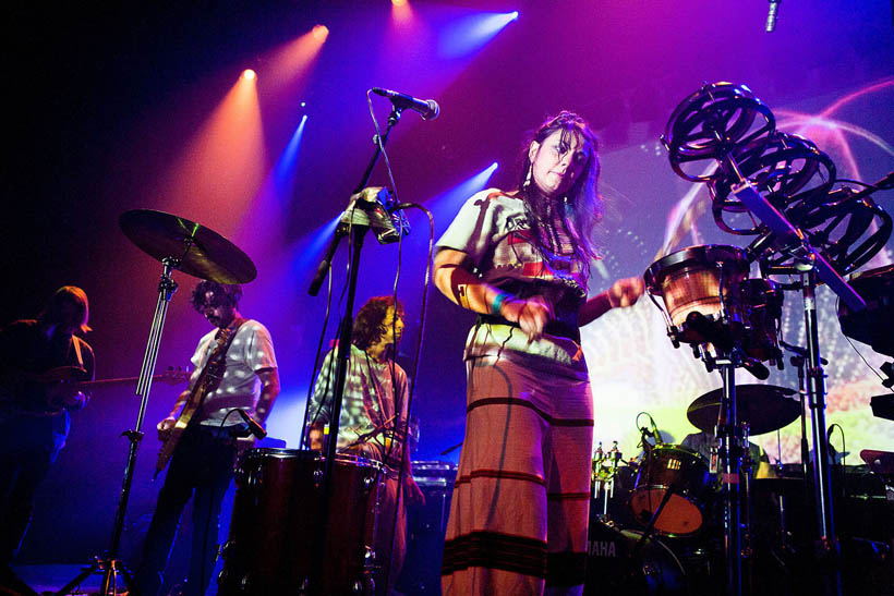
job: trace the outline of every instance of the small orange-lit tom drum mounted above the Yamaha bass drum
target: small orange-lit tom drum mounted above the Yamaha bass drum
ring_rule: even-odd
[[[655,521],[655,532],[688,536],[702,525],[701,497],[709,483],[708,464],[696,451],[680,445],[659,445],[640,466],[630,495],[630,509],[640,522],[648,523],[664,495],[673,488]]]

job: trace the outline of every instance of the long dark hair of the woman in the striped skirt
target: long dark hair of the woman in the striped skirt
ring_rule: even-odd
[[[563,143],[570,144],[571,138],[577,137],[587,156],[580,177],[565,193],[564,202],[567,207],[560,211],[563,226],[571,238],[575,253],[581,263],[587,264],[599,256],[593,231],[602,220],[604,206],[597,188],[600,177],[599,138],[587,125],[583,118],[573,112],[561,111],[558,115],[549,118],[541,124],[524,144],[519,188],[528,205],[534,207],[537,191],[528,178],[532,167],[529,149],[531,143],[537,142],[542,145],[544,139],[556,131],[561,131]],[[532,222],[532,226],[535,227],[536,222]],[[536,230],[534,231],[536,232]],[[535,233],[535,238],[539,234]]]

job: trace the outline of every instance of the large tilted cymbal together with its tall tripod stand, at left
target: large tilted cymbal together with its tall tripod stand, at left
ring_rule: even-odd
[[[100,594],[116,594],[116,576],[118,573],[121,574],[128,589],[131,592],[136,589],[124,562],[118,559],[118,551],[124,527],[124,514],[133,484],[136,453],[140,441],[143,439],[141,428],[146,414],[153,375],[158,358],[158,349],[161,343],[161,331],[165,327],[168,305],[177,291],[177,282],[171,277],[173,271],[179,270],[200,279],[220,283],[247,283],[257,276],[252,259],[245,253],[217,232],[188,219],[164,211],[133,209],[121,214],[118,218],[118,224],[124,235],[137,248],[161,261],[162,270],[158,282],[158,300],[149,327],[149,338],[143,356],[140,377],[136,382],[136,396],[140,397],[136,425],[133,430],[122,433],[122,436],[126,437],[129,441],[128,461],[124,466],[121,494],[116,508],[110,546],[105,554],[95,557],[95,560],[84,568],[76,577],[62,586],[57,592],[60,596],[69,594],[72,588],[97,572],[102,574]]]

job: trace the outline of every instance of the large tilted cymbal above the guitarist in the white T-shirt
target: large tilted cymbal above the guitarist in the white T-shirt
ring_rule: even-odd
[[[150,257],[180,259],[184,273],[219,283],[247,283],[257,277],[249,256],[235,244],[194,221],[165,211],[133,209],[118,224]]]

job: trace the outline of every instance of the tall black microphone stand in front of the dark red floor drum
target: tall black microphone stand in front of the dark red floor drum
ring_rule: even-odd
[[[361,192],[366,186],[370,175],[373,172],[373,168],[382,155],[382,149],[388,142],[388,135],[390,134],[391,129],[400,121],[401,111],[402,108],[394,105],[391,106],[391,113],[388,115],[388,125],[385,127],[385,133],[382,136],[376,135],[374,137],[376,146],[375,150],[373,151],[373,156],[366,167],[366,171],[363,172],[360,183],[357,185],[354,192],[351,193],[352,195]],[[338,426],[341,418],[341,403],[345,398],[345,381],[348,377],[348,365],[351,357],[351,335],[353,332],[353,311],[354,299],[357,296],[358,271],[360,268],[360,253],[363,247],[363,238],[366,235],[369,229],[369,224],[364,226],[355,222],[346,223],[343,220],[338,224],[338,228],[329,242],[329,246],[326,250],[326,256],[319,264],[317,273],[311,282],[311,288],[309,290],[311,295],[316,295],[321,284],[323,283],[323,278],[326,277],[326,273],[331,266],[331,259],[335,255],[336,248],[338,247],[338,243],[342,238],[349,235],[351,238],[351,264],[348,269],[348,293],[345,300],[345,317],[339,328],[338,350],[336,355],[336,384],[333,392],[333,408],[329,416],[328,441],[326,442],[326,451],[324,453],[323,461],[323,478],[319,483],[321,504],[318,516],[318,536],[322,536],[324,539],[318,543],[322,544],[323,547],[316,551],[315,555],[317,560],[312,568],[314,570],[313,573],[316,575],[310,579],[313,594],[323,594],[323,586],[321,584],[323,570],[322,563],[325,558],[325,554],[328,551],[329,538],[331,535],[331,533],[328,532],[329,500],[333,494],[333,472],[335,471],[336,450],[338,447]],[[305,419],[304,425],[306,424],[307,421]],[[335,547],[337,545],[331,546]]]

